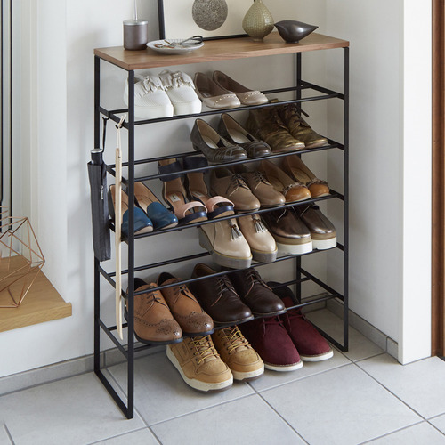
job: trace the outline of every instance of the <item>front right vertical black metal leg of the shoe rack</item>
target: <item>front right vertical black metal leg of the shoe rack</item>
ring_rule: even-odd
[[[344,352],[349,348],[349,48],[344,48]]]

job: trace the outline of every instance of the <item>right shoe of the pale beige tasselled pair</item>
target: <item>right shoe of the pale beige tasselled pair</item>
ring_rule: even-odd
[[[264,226],[258,214],[241,216],[238,223],[255,261],[271,263],[277,259],[278,248],[275,239]]]

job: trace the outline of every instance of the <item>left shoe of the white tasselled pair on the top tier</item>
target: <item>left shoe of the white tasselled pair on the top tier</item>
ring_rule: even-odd
[[[124,102],[128,106],[128,79],[125,83]],[[173,116],[172,102],[158,76],[134,76],[134,116],[140,119]]]

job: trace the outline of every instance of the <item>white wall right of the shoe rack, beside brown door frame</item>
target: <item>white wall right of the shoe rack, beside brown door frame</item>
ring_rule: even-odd
[[[327,34],[351,41],[350,305],[406,363],[431,353],[431,4],[331,0],[326,12]],[[328,121],[341,123],[334,108]]]

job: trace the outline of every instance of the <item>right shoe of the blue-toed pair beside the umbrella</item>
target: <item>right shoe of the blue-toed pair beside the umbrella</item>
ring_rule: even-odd
[[[134,183],[134,198],[150,218],[155,231],[178,225],[178,218],[169,212],[142,182]]]

